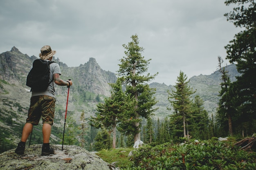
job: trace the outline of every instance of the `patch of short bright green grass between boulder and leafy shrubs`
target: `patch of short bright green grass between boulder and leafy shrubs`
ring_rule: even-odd
[[[119,168],[127,168],[131,166],[131,162],[129,161],[128,154],[130,151],[135,150],[135,148],[117,148],[117,149],[103,149],[96,153],[101,159],[108,163],[116,163],[116,167]]]

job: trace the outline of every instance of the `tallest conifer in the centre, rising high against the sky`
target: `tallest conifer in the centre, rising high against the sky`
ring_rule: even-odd
[[[152,108],[157,103],[153,97],[155,89],[149,88],[146,82],[154,79],[157,74],[146,74],[151,59],[145,60],[141,55],[144,48],[139,46],[138,36],[132,35],[131,38],[132,42],[123,45],[126,57],[120,60],[118,75],[125,79],[126,93],[134,97],[137,102],[130,115],[130,119],[133,120],[130,122],[133,124],[133,127],[130,126],[130,132],[134,135],[135,142],[140,140],[140,117],[148,118],[156,110]]]

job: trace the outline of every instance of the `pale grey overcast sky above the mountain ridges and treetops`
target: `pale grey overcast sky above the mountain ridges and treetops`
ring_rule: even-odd
[[[142,56],[152,59],[152,82],[175,85],[210,75],[224,46],[240,31],[224,14],[225,0],[0,0],[0,53],[16,46],[38,57],[50,45],[61,62],[79,66],[96,59],[116,73],[125,56],[123,44],[137,34]],[[225,62],[229,64],[228,61]]]

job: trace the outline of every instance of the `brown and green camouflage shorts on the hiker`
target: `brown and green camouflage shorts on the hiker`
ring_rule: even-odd
[[[26,123],[38,125],[40,117],[43,124],[53,125],[55,98],[47,95],[33,96],[30,99],[29,113]]]

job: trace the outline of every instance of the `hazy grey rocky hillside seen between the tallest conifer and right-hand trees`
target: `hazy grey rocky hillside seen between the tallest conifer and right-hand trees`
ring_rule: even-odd
[[[236,81],[236,76],[239,76],[240,73],[236,70],[236,65],[231,64],[227,66],[227,71],[229,72],[231,82]],[[185,73],[186,74],[186,73]],[[189,77],[188,77],[189,78]],[[216,114],[216,108],[218,105],[218,97],[220,91],[221,83],[221,73],[220,71],[215,71],[211,75],[199,75],[191,77],[189,86],[196,90],[196,93],[193,95],[199,95],[204,100],[204,108],[208,111],[209,115]],[[171,107],[168,102],[167,90],[173,89],[173,86],[167,86],[165,84],[151,83],[149,84],[150,88],[156,88],[156,98],[159,101],[155,107],[159,107],[159,110],[155,114],[158,117],[166,117],[172,114],[173,110],[167,110],[166,106]]]

